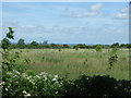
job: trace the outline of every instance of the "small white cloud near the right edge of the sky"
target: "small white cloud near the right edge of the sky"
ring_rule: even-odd
[[[129,16],[129,9],[124,8],[119,13],[117,13],[115,17],[119,20],[126,20],[128,19],[128,16]]]

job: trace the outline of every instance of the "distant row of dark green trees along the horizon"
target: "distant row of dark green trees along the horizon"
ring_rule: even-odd
[[[43,49],[43,48],[50,48],[50,49],[96,49],[96,48],[131,48],[131,44],[119,44],[115,42],[112,45],[85,45],[85,44],[78,44],[78,45],[59,45],[59,44],[48,44],[48,40],[44,40],[43,44],[37,41],[32,41],[31,44],[25,44],[24,39],[19,39],[16,44],[12,44],[9,41],[11,49]]]

